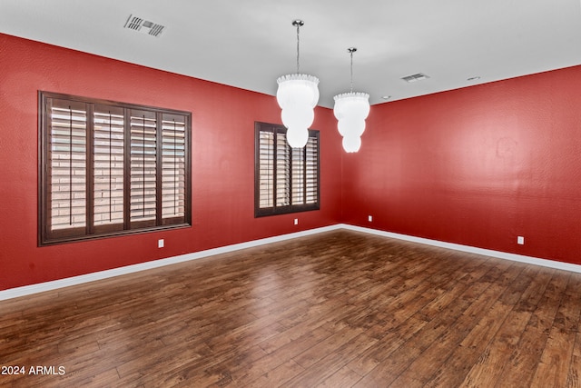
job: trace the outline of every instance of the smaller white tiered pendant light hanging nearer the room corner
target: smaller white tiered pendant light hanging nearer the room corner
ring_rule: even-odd
[[[369,95],[353,92],[353,53],[356,47],[350,47],[347,52],[351,55],[351,91],[335,95],[333,113],[339,121],[337,129],[343,136],[343,149],[347,153],[356,153],[361,146],[361,134],[365,131],[365,119],[369,115]]]

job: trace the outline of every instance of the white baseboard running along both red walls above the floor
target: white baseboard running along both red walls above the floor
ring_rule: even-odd
[[[68,286],[76,285],[76,284],[84,284],[84,283],[94,282],[96,280],[107,279],[107,278],[114,277],[114,276],[121,276],[123,274],[133,274],[133,273],[136,273],[139,271],[158,268],[158,267],[162,267],[165,265],[188,262],[191,260],[200,259],[202,257],[212,256],[214,254],[227,254],[227,253],[238,251],[238,250],[245,249],[245,248],[251,248],[254,246],[260,246],[260,245],[264,245],[264,244],[277,243],[277,242],[291,240],[293,238],[302,237],[302,236],[306,236],[306,235],[310,235],[310,234],[320,234],[322,232],[329,232],[329,231],[338,230],[338,229],[348,229],[348,230],[363,232],[363,233],[367,233],[367,234],[375,234],[375,235],[379,235],[379,236],[409,241],[412,243],[434,245],[434,246],[439,246],[442,248],[452,249],[455,251],[468,252],[471,254],[482,254],[485,256],[497,257],[499,259],[512,260],[512,261],[520,262],[520,263],[535,264],[535,265],[541,265],[541,266],[545,266],[545,267],[549,267],[549,268],[556,268],[556,269],[560,269],[560,270],[581,273],[581,265],[578,265],[578,264],[556,262],[553,260],[540,259],[537,257],[524,256],[524,255],[520,255],[520,254],[507,254],[506,252],[492,251],[489,249],[477,248],[477,247],[468,246],[468,245],[445,243],[445,242],[441,242],[441,241],[437,241],[437,240],[429,240],[427,238],[414,237],[414,236],[410,236],[407,234],[394,234],[391,232],[384,232],[384,231],[380,231],[377,229],[364,228],[361,226],[353,226],[350,224],[335,224],[335,225],[324,226],[324,227],[320,227],[320,228],[316,228],[316,229],[310,229],[310,230],[306,230],[306,231],[296,232],[296,233],[292,233],[292,234],[281,234],[278,236],[263,238],[260,240],[253,240],[253,241],[249,241],[249,242],[241,243],[241,244],[226,245],[226,246],[222,246],[219,248],[208,249],[206,251],[194,252],[192,254],[182,254],[179,256],[168,257],[166,259],[154,260],[152,262],[127,265],[127,266],[113,268],[111,270],[100,271],[100,272],[96,272],[96,273],[92,273],[92,274],[83,274],[80,276],[67,277],[64,279],[54,280],[52,282],[30,284],[30,285],[25,285],[22,287],[10,288],[8,290],[0,291],[0,301],[6,300],[6,299],[13,299],[13,298],[17,298],[20,296],[30,295],[33,293],[44,293],[45,291],[56,290],[59,288],[68,287]]]

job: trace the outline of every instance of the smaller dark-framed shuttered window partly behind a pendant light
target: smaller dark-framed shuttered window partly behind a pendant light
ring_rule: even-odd
[[[282,125],[255,124],[254,215],[318,210],[319,131],[304,148],[291,148]]]

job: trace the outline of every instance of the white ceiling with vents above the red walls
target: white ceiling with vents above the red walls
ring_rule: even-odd
[[[134,32],[129,15],[166,28]],[[371,104],[581,64],[579,0],[0,1],[2,33],[268,95],[296,72],[294,19],[327,107],[350,90],[350,46]],[[429,78],[400,79],[416,73]]]

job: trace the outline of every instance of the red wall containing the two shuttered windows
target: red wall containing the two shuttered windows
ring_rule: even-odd
[[[254,121],[281,123],[274,97],[9,35],[0,35],[0,58],[0,290],[340,222],[340,135],[329,109],[317,108],[312,125],[320,211],[255,219]],[[192,112],[192,227],[37,247],[38,90]]]

